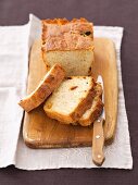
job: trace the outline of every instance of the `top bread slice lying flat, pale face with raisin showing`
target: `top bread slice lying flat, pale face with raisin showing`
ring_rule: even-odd
[[[72,76],[64,79],[46,101],[46,114],[65,124],[78,121],[91,107],[95,86],[91,76]]]

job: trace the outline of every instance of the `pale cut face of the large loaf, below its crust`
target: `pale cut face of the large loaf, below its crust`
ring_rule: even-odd
[[[65,70],[66,76],[87,76],[91,73],[93,63],[92,50],[74,50],[74,51],[49,51],[43,53],[45,64],[49,67],[59,64]]]

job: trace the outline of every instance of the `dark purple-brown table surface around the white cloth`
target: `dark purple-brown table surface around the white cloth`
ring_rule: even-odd
[[[134,169],[0,170],[0,185],[137,185],[138,184],[138,0],[0,0],[0,25],[18,25],[34,13],[40,18],[80,17],[95,25],[123,26],[122,72],[129,120]]]

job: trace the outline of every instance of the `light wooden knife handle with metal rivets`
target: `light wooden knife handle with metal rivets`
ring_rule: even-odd
[[[104,161],[104,135],[103,135],[103,119],[93,122],[93,138],[92,138],[92,161],[96,165],[102,165]]]

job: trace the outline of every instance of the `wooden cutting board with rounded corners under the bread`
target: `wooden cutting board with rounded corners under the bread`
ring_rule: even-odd
[[[47,70],[41,59],[40,40],[36,40],[30,50],[27,94],[30,94],[39,84]],[[101,74],[104,83],[106,141],[113,140],[117,115],[117,70],[115,49],[112,40],[106,38],[95,39],[95,63],[92,75]],[[92,126],[81,127],[59,124],[49,119],[42,104],[29,113],[25,113],[23,137],[30,148],[59,148],[91,146]]]

